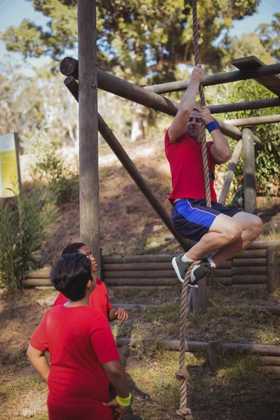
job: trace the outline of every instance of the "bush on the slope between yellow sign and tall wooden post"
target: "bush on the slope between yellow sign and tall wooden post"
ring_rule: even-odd
[[[32,167],[34,180],[46,181],[48,190],[57,204],[71,202],[78,197],[78,172],[67,167],[55,148],[45,150],[43,159]]]

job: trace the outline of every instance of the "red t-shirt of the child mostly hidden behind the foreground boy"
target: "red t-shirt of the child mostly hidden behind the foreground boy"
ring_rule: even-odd
[[[53,306],[55,307],[58,304],[64,304],[68,302],[68,300],[69,299],[62,295],[62,293],[59,293]],[[112,309],[112,305],[108,296],[108,290],[106,289],[106,286],[103,283],[103,281],[99,279],[97,279],[96,287],[94,288],[94,290],[92,290],[92,293],[90,293],[90,308],[96,309],[101,314],[106,316],[107,319],[109,311],[110,309]]]

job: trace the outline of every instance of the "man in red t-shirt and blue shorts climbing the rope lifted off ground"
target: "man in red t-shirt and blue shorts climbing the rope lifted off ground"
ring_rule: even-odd
[[[165,154],[172,174],[172,221],[182,237],[197,244],[187,253],[173,258],[172,265],[180,281],[195,260],[190,274],[190,286],[207,276],[221,262],[232,258],[249,246],[262,232],[258,216],[218,204],[214,190],[215,165],[227,162],[231,151],[209,109],[195,109],[195,100],[203,78],[201,64],[193,69],[190,84],[183,94],[171,127],[165,134]],[[200,133],[204,123],[213,141],[207,142],[207,159],[211,190],[211,207],[206,205],[204,169]],[[204,255],[211,258],[203,258]]]

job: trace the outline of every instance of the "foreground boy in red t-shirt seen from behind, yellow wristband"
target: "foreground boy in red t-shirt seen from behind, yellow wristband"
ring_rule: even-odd
[[[27,356],[48,382],[50,420],[123,419],[130,390],[106,318],[89,307],[96,286],[91,261],[66,254],[50,279],[69,300],[50,309],[29,342]],[[50,352],[50,366],[45,358]],[[109,401],[109,379],[117,397]]]

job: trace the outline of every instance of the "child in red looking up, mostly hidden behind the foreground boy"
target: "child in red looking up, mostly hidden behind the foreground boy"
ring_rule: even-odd
[[[83,242],[73,242],[73,244],[65,246],[62,251],[62,256],[66,253],[83,253],[92,262],[92,272],[97,272],[97,262],[95,261],[90,248],[83,244]],[[94,290],[92,290],[92,293],[90,293],[90,307],[97,309],[97,311],[104,314],[109,321],[115,321],[116,319],[118,319],[118,322],[120,323],[127,321],[127,311],[123,308],[113,309],[105,284],[99,279],[96,279],[96,281],[97,285]],[[68,299],[62,295],[62,293],[59,293],[53,306],[55,307],[57,304],[64,304],[67,300]]]

